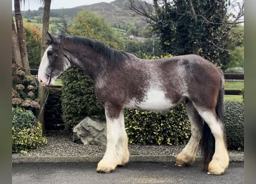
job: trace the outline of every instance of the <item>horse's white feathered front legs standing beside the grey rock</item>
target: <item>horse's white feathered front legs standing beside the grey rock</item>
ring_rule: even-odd
[[[112,117],[107,109],[106,128],[107,144],[103,159],[98,163],[98,173],[110,173],[117,165],[123,166],[129,160],[128,140],[124,127],[124,113],[121,110],[119,116]]]

